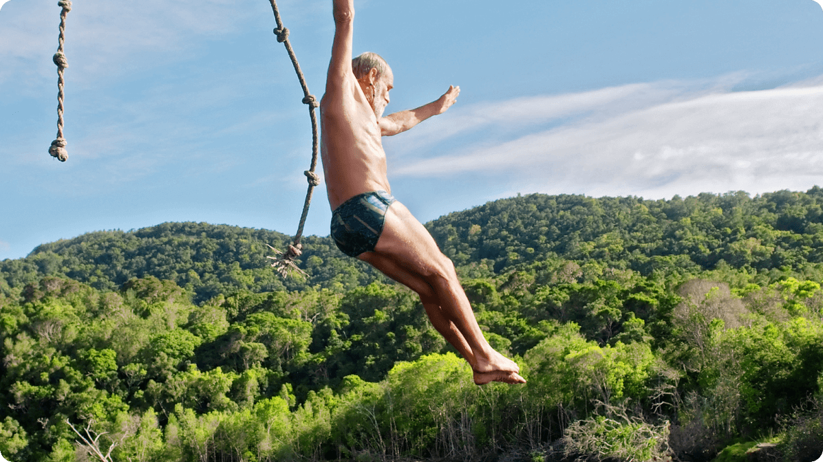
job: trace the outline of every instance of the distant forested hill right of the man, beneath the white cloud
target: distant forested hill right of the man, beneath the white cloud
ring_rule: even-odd
[[[429,224],[455,265],[495,272],[559,257],[644,275],[735,268],[802,270],[823,261],[823,189],[700,194],[686,199],[532,194],[445,215]]]

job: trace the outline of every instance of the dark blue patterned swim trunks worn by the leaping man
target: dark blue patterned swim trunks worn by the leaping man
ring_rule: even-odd
[[[343,202],[332,212],[332,238],[343,253],[358,256],[377,245],[386,211],[395,201],[385,191],[364,192]]]

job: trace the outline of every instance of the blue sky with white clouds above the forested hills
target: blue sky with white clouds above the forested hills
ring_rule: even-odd
[[[281,0],[323,93],[330,0]],[[806,191],[823,175],[823,10],[811,0],[355,0],[354,51],[393,68],[384,138],[422,222],[542,192],[668,199]],[[57,130],[60,7],[0,10],[0,260],[167,221],[295,233],[311,126],[263,0],[75,0]],[[305,233],[328,235],[324,186]]]

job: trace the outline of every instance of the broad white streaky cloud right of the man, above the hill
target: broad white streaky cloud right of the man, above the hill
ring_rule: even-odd
[[[466,108],[435,127],[448,134],[439,142],[463,143],[458,150],[401,157],[393,173],[479,173],[518,183],[518,191],[593,196],[765,192],[821,181],[819,82],[745,92],[689,86],[625,85]],[[491,124],[532,129],[514,139],[479,130]]]

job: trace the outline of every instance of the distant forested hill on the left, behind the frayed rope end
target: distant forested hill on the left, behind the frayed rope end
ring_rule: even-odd
[[[289,236],[226,224],[164,223],[123,232],[96,231],[42,244],[25,258],[0,261],[0,286],[19,288],[44,275],[62,275],[95,289],[119,289],[132,278],[172,280],[203,302],[219,293],[277,292],[319,285],[351,289],[382,280],[365,263],[337,250],[329,238],[306,236],[299,275],[283,280],[266,256],[284,249]]]

